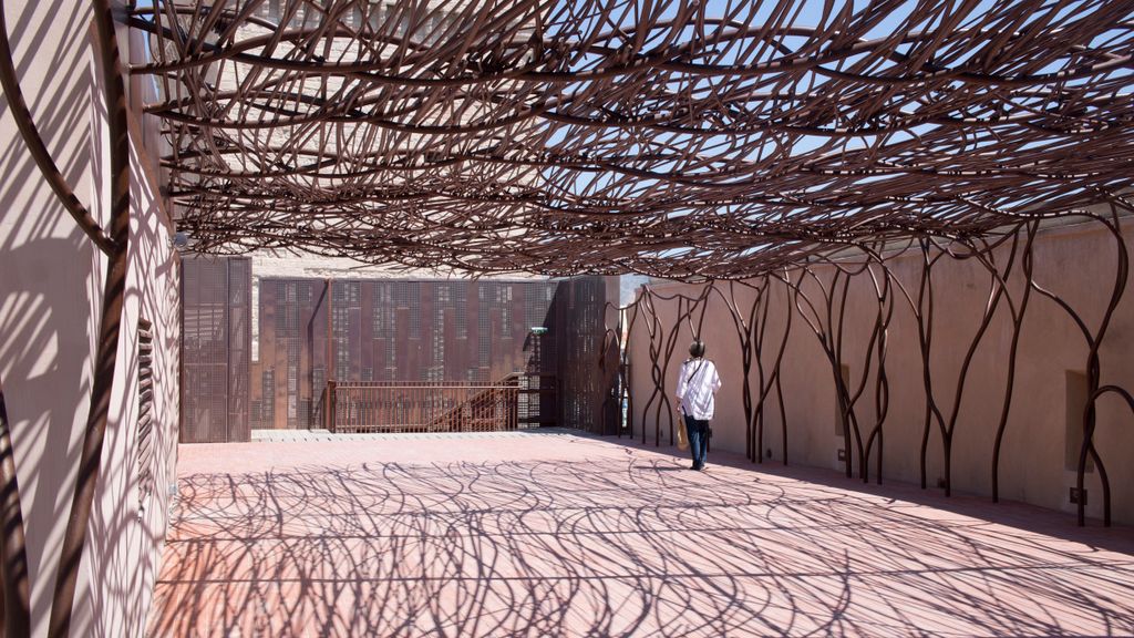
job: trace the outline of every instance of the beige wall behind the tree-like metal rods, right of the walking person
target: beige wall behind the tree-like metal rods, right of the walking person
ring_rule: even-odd
[[[1129,219],[1127,227],[1134,226]],[[1131,244],[1131,230],[1126,243]],[[1114,286],[1117,249],[1111,235],[1098,224],[1068,226],[1044,230],[1035,245],[1035,280],[1064,296],[1078,310],[1089,326],[1095,328]],[[1005,254],[999,253],[1000,259]],[[916,294],[921,272],[920,255],[902,257],[891,268],[911,294]],[[829,280],[831,269],[818,268]],[[1022,279],[1010,280],[1018,299]],[[721,286],[727,289],[727,286]],[[677,292],[696,295],[700,286],[654,284],[663,295]],[[737,288],[741,289],[739,287]],[[814,286],[805,289],[815,292]],[[934,336],[932,369],[934,394],[946,412],[965,350],[975,334],[989,293],[989,276],[973,260],[943,259],[934,269]],[[751,308],[753,294],[737,293],[742,309]],[[785,310],[784,286],[777,286],[772,297],[770,334],[764,360],[770,366],[778,338],[782,335]],[[675,303],[659,302],[662,325],[670,329]],[[864,370],[864,355],[873,326],[877,301],[869,277],[856,277],[847,305],[846,346],[844,360],[849,363],[850,381],[857,385]],[[1109,333],[1101,347],[1102,384],[1116,384],[1134,389],[1134,358],[1131,336],[1134,331],[1134,294],[1126,291]],[[666,380],[667,392],[676,385],[676,370],[686,356],[692,334],[682,333]],[[981,343],[967,377],[963,403],[953,444],[954,489],[980,495],[991,494],[991,459],[1007,375],[1010,321],[1007,304],[1001,302],[984,341]],[[741,384],[739,345],[733,319],[721,302],[712,295],[704,320],[703,338],[709,356],[714,359],[723,378],[713,421],[713,446],[744,452],[744,411]],[[898,297],[889,329],[887,373],[890,381],[890,409],[885,422],[883,476],[902,481],[920,480],[920,446],[922,436],[924,391],[921,354],[917,346],[916,321],[909,304]],[[649,335],[642,319],[634,326],[631,339],[632,388],[635,401],[635,436],[641,437],[642,406],[652,391],[650,379]],[[1024,320],[1016,370],[1016,388],[1000,460],[1001,498],[1024,501],[1044,507],[1074,511],[1068,488],[1075,484],[1075,472],[1065,469],[1067,443],[1068,372],[1085,370],[1088,347],[1067,314],[1053,302],[1033,294]],[[871,370],[874,366],[871,366]],[[751,384],[756,389],[753,367]],[[788,461],[797,464],[841,469],[838,450],[841,436],[836,436],[837,406],[830,364],[814,333],[798,314],[782,364],[784,401],[787,412]],[[868,379],[864,397],[856,405],[860,421],[872,426],[873,376]],[[1072,393],[1072,402],[1074,396]],[[769,405],[763,448],[772,452],[772,461],[781,461],[781,422],[775,401]],[[1099,427],[1095,434],[1110,479],[1112,512],[1117,522],[1134,523],[1134,417],[1119,400],[1101,400]],[[653,411],[644,417],[648,440],[652,442]],[[663,431],[668,422],[663,421]],[[1078,440],[1070,442],[1077,454]],[[1075,456],[1077,459],[1077,455]],[[767,459],[765,459],[767,462]],[[857,467],[856,467],[857,469]],[[873,467],[871,468],[873,473]],[[936,426],[931,433],[928,480],[932,487],[942,476],[941,436]],[[1101,517],[1102,493],[1097,472],[1088,475],[1088,514]]]

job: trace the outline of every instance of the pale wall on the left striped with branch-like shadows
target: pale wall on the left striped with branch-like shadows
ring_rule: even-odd
[[[109,146],[90,5],[8,2],[17,72],[56,162],[104,225]],[[124,53],[130,51],[119,30]],[[137,43],[135,43],[136,45]],[[132,102],[144,85],[132,83]],[[73,636],[139,636],[160,560],[177,440],[177,258],[160,208],[153,127],[132,121],[130,270]],[[93,378],[105,259],[40,177],[5,102],[0,110],[0,379],[12,421],[32,582],[33,635],[46,631],[59,548]],[[139,494],[137,325],[153,325],[153,488]]]

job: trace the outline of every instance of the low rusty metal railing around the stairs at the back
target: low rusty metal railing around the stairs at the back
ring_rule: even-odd
[[[335,433],[501,431],[519,426],[521,388],[499,383],[328,383],[327,428]]]

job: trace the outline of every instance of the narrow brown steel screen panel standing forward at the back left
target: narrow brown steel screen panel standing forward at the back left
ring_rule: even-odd
[[[252,262],[181,263],[180,439],[248,440]]]

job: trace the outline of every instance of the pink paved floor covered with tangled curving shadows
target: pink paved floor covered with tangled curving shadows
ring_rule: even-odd
[[[1129,528],[710,460],[549,435],[181,446],[151,633],[1134,633]]]

